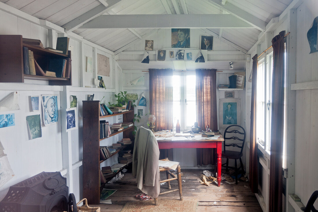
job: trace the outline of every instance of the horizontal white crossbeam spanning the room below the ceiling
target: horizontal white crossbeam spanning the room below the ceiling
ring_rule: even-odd
[[[118,19],[121,21],[118,22]],[[101,15],[79,28],[254,28],[231,14]]]

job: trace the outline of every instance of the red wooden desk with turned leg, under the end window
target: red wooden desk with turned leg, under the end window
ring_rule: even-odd
[[[171,149],[171,148],[216,148],[217,163],[218,163],[218,187],[221,185],[221,155],[222,155],[222,142],[224,138],[221,137],[215,140],[202,139],[202,140],[158,140],[159,149]]]

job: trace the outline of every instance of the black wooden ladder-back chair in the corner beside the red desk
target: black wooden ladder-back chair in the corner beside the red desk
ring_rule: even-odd
[[[236,130],[237,128],[240,128],[241,130]],[[235,135],[232,136],[232,133]],[[239,135],[238,135],[239,134]],[[240,136],[242,135],[242,136]],[[243,138],[239,138],[239,137]],[[246,137],[246,132],[243,127],[237,124],[233,124],[228,126],[225,131],[224,131],[224,141],[223,141],[223,151],[222,151],[222,158],[226,158],[226,163],[222,164],[223,167],[226,168],[226,171],[228,171],[228,168],[235,169],[235,184],[238,184],[238,171],[241,168],[243,171],[243,174],[245,174],[243,163],[241,157],[243,156],[243,147],[245,143],[245,137]],[[237,144],[225,144],[226,140],[239,140],[243,141],[242,145],[239,146]],[[226,150],[227,146],[234,146],[240,148],[240,151],[231,151],[231,150]],[[229,166],[229,159],[234,159],[235,160],[235,167]],[[238,168],[237,167],[237,162],[236,160],[239,159],[241,166]]]

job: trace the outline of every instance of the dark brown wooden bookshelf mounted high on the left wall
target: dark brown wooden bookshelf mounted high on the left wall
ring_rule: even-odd
[[[70,78],[24,74],[23,47],[33,52],[34,60],[43,70],[48,70],[50,59],[71,58],[71,51],[66,55],[24,44],[22,35],[0,35],[0,82],[24,82],[24,79],[30,79],[49,81],[49,85],[72,85],[72,68]]]

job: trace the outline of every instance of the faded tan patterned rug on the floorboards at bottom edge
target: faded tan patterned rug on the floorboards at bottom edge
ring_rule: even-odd
[[[121,212],[196,212],[198,201],[169,200],[158,198],[158,205],[154,200],[127,202]]]

